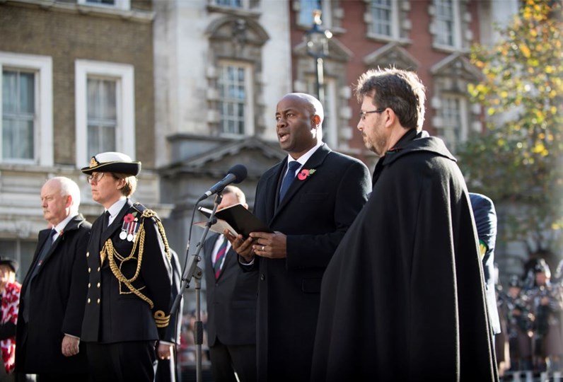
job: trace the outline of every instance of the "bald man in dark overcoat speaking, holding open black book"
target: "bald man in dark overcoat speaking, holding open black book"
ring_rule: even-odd
[[[227,234],[243,268],[259,274],[258,381],[309,381],[320,281],[371,191],[364,163],[323,143],[323,115],[313,96],[281,98],[276,129],[288,156],[260,178],[254,208],[275,232]]]

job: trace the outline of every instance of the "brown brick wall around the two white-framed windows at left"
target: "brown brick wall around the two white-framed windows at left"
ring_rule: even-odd
[[[133,1],[133,6],[139,1]],[[150,8],[150,1],[142,1]],[[54,163],[74,164],[76,59],[132,64],[135,71],[137,159],[154,163],[152,23],[61,8],[0,4],[0,51],[40,54],[53,61]]]

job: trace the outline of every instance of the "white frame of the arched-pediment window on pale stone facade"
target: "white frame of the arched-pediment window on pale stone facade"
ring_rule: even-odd
[[[244,105],[244,113],[245,113],[245,117],[244,117],[244,131],[242,134],[234,134],[234,133],[230,133],[230,132],[224,132],[221,122],[223,121],[223,114],[221,112],[221,110],[219,109],[219,134],[223,137],[249,137],[254,135],[255,132],[255,124],[254,124],[254,73],[253,73],[253,64],[250,64],[248,62],[240,62],[240,61],[234,61],[234,60],[227,60],[227,59],[222,59],[219,60],[218,64],[218,69],[219,69],[219,76],[221,76],[221,68],[224,66],[235,66],[238,68],[243,68],[244,69],[244,73],[245,73],[245,94],[246,94],[246,98],[245,98],[245,105]],[[219,81],[218,81],[218,85],[219,86]],[[217,94],[221,94],[221,91],[219,89],[219,87],[217,88]],[[219,103],[222,102],[222,99],[220,98],[221,96],[219,96]]]

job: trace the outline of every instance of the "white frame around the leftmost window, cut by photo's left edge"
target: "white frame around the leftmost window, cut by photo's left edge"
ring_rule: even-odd
[[[53,166],[53,69],[52,58],[35,54],[19,54],[0,52],[0,72],[6,69],[35,72],[35,125],[34,158],[31,161],[22,159],[2,159],[0,137],[0,163],[37,163],[40,166]],[[0,76],[0,89],[2,76]],[[0,115],[2,112],[2,94],[0,91]],[[0,118],[0,134],[2,119]]]

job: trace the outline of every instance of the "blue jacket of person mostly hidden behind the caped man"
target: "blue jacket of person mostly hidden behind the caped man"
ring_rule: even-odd
[[[494,288],[494,244],[497,242],[497,212],[489,197],[470,192],[469,199],[475,217],[475,226],[477,226],[477,237],[480,241],[489,320],[493,333],[499,334],[501,323],[499,309],[497,308],[497,291]]]

